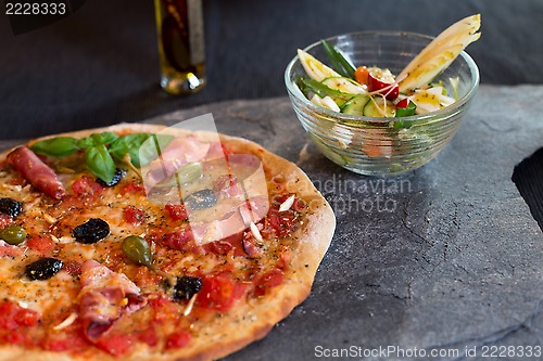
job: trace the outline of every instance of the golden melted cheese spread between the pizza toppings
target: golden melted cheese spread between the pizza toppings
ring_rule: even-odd
[[[119,184],[104,189],[102,194],[76,199],[72,191],[74,182],[83,175],[92,178],[93,176],[85,169],[78,155],[55,160],[55,167],[56,169],[73,170],[73,172],[60,177],[67,191],[67,196],[60,202],[49,198],[29,185],[20,183],[18,175],[13,170],[9,168],[0,170],[0,196],[12,197],[23,203],[24,210],[14,221],[15,224],[24,227],[28,233],[27,241],[17,246],[23,250],[22,255],[0,257],[0,269],[2,270],[0,272],[0,298],[10,299],[21,307],[37,311],[40,314],[40,326],[55,332],[63,332],[70,328],[74,322],[79,322],[77,307],[81,282],[77,265],[80,266],[86,260],[97,260],[112,271],[126,275],[138,289],[141,289],[141,294],[146,297],[149,295],[151,295],[149,297],[156,297],[156,295],[166,297],[164,274],[179,276],[227,272],[231,273],[231,278],[236,282],[251,284],[257,274],[265,274],[275,269],[293,242],[291,238],[269,238],[269,232],[266,234],[268,237],[266,238],[263,236],[262,224],[255,224],[258,219],[254,219],[253,215],[244,215],[241,216],[242,224],[245,229],[250,228],[245,232],[252,232],[260,242],[258,247],[266,255],[265,257],[256,259],[236,256],[232,253],[220,255],[210,252],[181,252],[151,242],[154,257],[153,267],[156,269],[156,272],[153,272],[152,269],[128,261],[123,255],[121,244],[129,235],[150,238],[154,236],[160,241],[164,235],[174,233],[186,225],[185,221],[173,220],[164,209],[164,201],[167,197],[164,195],[162,197],[160,195],[148,197],[137,191],[121,194],[124,186],[140,184],[138,176],[134,171],[128,171]],[[252,171],[254,172],[254,169]],[[223,171],[217,170],[198,182],[187,184],[184,191],[191,192],[202,188],[213,188],[213,177],[220,175],[224,175]],[[227,209],[237,209],[248,194],[250,196],[264,195],[268,199],[267,190],[268,188],[274,190],[274,185],[268,186],[266,183],[263,185],[261,180],[254,176],[244,176],[247,180],[244,194],[220,199],[218,207],[194,212],[198,215],[198,219],[202,222],[213,222],[217,217],[227,212]],[[269,197],[273,195],[270,194]],[[292,202],[294,202],[293,197],[287,199],[281,210],[291,212]],[[130,223],[125,217],[127,207],[136,207],[143,211],[144,220],[136,224]],[[268,208],[265,209],[267,212]],[[75,242],[72,235],[73,229],[90,218],[106,220],[110,225],[110,234],[96,244]],[[263,232],[261,233],[261,231]],[[54,248],[40,254],[40,250],[28,246],[33,237],[47,237],[54,243]],[[212,236],[207,238],[207,241],[213,240]],[[204,244],[198,246],[202,247]],[[24,275],[25,267],[41,257],[54,257],[63,260],[64,269],[49,280],[30,281]],[[75,270],[72,269],[73,267]],[[207,332],[209,327],[213,326],[212,324],[199,323],[198,312],[194,311],[197,305],[198,297],[193,296],[190,301],[182,305],[180,314],[185,314],[184,317],[189,320],[192,332],[198,334],[199,332]],[[197,314],[194,315],[194,313]],[[165,333],[174,327],[174,324],[169,324],[161,328],[160,332]]]

